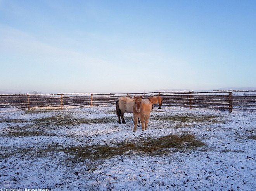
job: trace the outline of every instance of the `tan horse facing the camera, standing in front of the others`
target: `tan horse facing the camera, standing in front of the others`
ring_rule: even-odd
[[[137,129],[138,118],[140,118],[142,131],[147,130],[147,122],[149,121],[149,115],[152,110],[152,104],[148,99],[142,99],[142,96],[134,96],[133,104],[133,118],[134,118],[134,129]],[[145,125],[144,125],[145,120]]]

